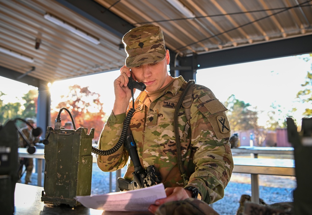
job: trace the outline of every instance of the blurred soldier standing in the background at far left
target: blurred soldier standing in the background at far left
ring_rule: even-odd
[[[32,125],[32,127],[35,127],[35,119],[32,118],[26,118],[26,121]],[[31,144],[35,144],[35,143],[39,143],[39,138],[38,137],[34,137],[32,134],[32,127],[30,125],[26,125],[26,127],[22,128],[22,132],[24,133],[25,137],[29,140],[29,143]],[[27,142],[22,138],[22,136],[20,135],[19,137],[19,147],[21,148],[26,148]],[[30,178],[32,176],[32,169],[34,167],[34,162],[33,162],[33,158],[19,158],[20,160],[20,166],[18,169],[18,183],[21,183],[21,177],[22,177],[22,170],[23,170],[23,166],[25,166],[26,168],[26,176],[25,176],[25,184],[28,184],[31,182]]]

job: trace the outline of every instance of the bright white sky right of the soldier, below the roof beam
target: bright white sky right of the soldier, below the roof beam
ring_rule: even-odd
[[[225,102],[233,94],[236,99],[257,107],[257,110],[263,110],[258,115],[259,124],[265,124],[268,120],[267,112],[272,110],[272,103],[281,105],[285,112],[297,108],[293,117],[300,122],[305,109],[312,109],[311,104],[307,106],[294,102],[298,91],[303,89],[301,84],[305,83],[307,71],[311,72],[312,58],[305,62],[303,57],[309,55],[197,70],[196,83],[210,88],[221,102]]]

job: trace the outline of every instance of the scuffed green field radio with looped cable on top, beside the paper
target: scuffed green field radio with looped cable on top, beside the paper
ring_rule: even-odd
[[[42,142],[45,145],[46,166],[41,201],[47,205],[66,204],[74,207],[80,205],[76,196],[91,194],[94,128],[90,129],[89,134],[87,128],[76,130],[72,116],[74,129],[62,128],[62,110],[68,111],[61,108],[54,129],[47,128],[46,138]]]

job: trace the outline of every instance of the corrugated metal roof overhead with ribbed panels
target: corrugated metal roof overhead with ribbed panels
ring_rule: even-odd
[[[0,48],[33,59],[27,62],[0,52],[0,66],[47,82],[123,66],[122,36],[60,2],[64,0],[0,0]],[[312,34],[311,1],[179,0],[193,18],[169,3],[173,0],[89,0],[86,7],[90,2],[104,7],[95,11],[103,16],[110,11],[133,26],[160,26],[166,47],[180,56]],[[92,35],[100,44],[46,20],[46,13]],[[107,22],[114,24],[114,20]]]

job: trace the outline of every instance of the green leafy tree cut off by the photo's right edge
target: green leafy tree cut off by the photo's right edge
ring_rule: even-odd
[[[310,54],[312,57],[312,54]],[[304,58],[305,61],[311,60],[311,58]],[[312,63],[311,63],[311,71],[312,71]],[[307,103],[307,105],[312,105],[312,73],[307,71],[307,76],[305,77],[305,83],[301,84],[304,87],[303,90],[300,90],[297,93],[297,98],[300,99],[300,102]],[[312,115],[312,108],[306,108],[305,112],[302,114],[304,116]]]

